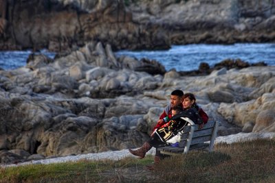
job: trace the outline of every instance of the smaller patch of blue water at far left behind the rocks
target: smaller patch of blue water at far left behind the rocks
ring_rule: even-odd
[[[33,53],[32,51],[0,51],[0,68],[4,70],[17,69],[27,64],[28,56]],[[54,58],[55,53],[41,50],[34,54],[43,53],[50,58]]]

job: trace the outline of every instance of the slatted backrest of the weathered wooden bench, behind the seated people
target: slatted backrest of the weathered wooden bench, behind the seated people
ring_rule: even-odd
[[[184,147],[184,153],[187,153],[190,146],[208,142],[208,151],[212,151],[214,140],[217,136],[219,121],[208,121],[203,128],[199,129],[199,125],[195,125],[190,119],[181,117],[188,121],[190,125],[184,127],[180,133],[179,147]]]

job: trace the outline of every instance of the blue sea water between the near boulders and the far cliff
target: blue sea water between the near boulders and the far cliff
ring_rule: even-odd
[[[17,69],[25,66],[26,60],[32,51],[0,51],[0,68],[5,70]],[[54,58],[55,53],[42,50],[41,53]],[[129,51],[115,52],[115,56],[131,56],[138,60],[148,58],[161,62],[166,71],[192,71],[199,68],[201,62],[210,66],[225,59],[237,58],[249,62],[265,62],[269,66],[275,66],[275,43],[241,43],[234,45],[173,45],[168,50],[162,51]]]

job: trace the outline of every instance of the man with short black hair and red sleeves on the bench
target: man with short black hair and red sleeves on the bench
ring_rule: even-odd
[[[182,90],[173,90],[173,92],[170,95],[170,103],[166,108],[164,109],[164,112],[159,117],[159,121],[157,121],[157,125],[153,128],[153,133],[155,130],[165,123],[168,123],[168,120],[172,117],[172,108],[176,106],[181,106],[182,107],[182,97],[184,96],[184,92]],[[166,118],[168,117],[168,118]],[[152,133],[152,134],[153,134]]]

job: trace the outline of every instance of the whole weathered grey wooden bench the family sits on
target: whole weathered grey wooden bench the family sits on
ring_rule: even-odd
[[[186,118],[181,117],[185,121],[188,121],[189,125],[186,125],[184,129],[179,132],[179,147],[158,147],[156,150],[161,154],[175,155],[186,154],[189,150],[207,149],[212,151],[214,146],[214,140],[217,136],[217,130],[219,121],[208,121],[203,128],[199,129],[199,125]]]

